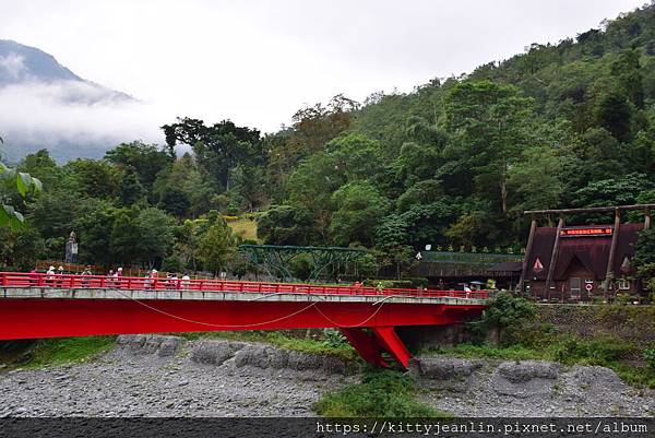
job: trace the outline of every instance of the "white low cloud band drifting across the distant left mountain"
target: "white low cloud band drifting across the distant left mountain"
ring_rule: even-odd
[[[19,66],[3,58],[7,66]],[[15,67],[17,68],[17,67]],[[153,104],[82,81],[24,82],[0,88],[2,155],[16,162],[48,149],[59,161],[100,157],[120,142],[160,143],[172,115]]]

